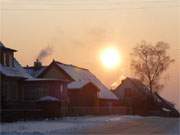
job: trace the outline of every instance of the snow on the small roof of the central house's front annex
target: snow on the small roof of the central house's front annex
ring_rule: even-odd
[[[68,84],[68,89],[80,89],[82,87],[84,87],[85,85],[87,85],[89,83],[89,81],[74,81]]]

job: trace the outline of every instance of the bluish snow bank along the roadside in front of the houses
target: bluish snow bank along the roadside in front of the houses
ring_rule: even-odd
[[[65,117],[56,120],[44,120],[44,121],[21,121],[14,123],[0,124],[2,135],[16,135],[16,134],[53,134],[56,132],[64,133],[66,131],[73,131],[77,129],[84,129],[86,127],[96,127],[98,124],[108,123],[113,121],[127,122],[131,119],[141,119],[141,117],[129,116],[84,116],[84,117]]]

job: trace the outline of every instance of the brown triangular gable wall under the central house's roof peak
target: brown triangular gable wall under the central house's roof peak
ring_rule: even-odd
[[[38,78],[52,78],[61,80],[71,80],[63,70],[58,68],[55,64],[51,64]]]

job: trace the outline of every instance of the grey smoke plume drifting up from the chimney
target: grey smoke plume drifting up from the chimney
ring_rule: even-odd
[[[42,49],[37,57],[38,60],[43,61],[46,57],[52,55],[53,48],[52,46],[47,46],[46,48]]]

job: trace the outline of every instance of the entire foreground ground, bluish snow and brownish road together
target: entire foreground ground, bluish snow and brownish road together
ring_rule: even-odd
[[[102,116],[68,117],[57,120],[4,123],[1,135],[180,135],[180,119]]]

